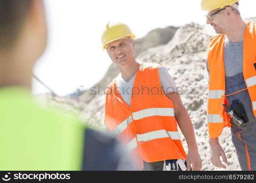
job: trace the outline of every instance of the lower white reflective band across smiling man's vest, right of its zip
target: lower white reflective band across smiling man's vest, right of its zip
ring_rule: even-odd
[[[137,134],[138,141],[151,141],[153,139],[158,138],[167,138],[170,137],[173,140],[179,140],[179,132],[178,131],[166,131],[166,130],[157,130],[151,131],[145,134]]]

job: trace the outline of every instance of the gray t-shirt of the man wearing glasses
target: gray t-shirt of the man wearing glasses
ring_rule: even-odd
[[[224,64],[225,77],[231,77],[243,72],[244,42],[230,42],[225,36]],[[206,59],[207,81],[209,82],[209,67]]]

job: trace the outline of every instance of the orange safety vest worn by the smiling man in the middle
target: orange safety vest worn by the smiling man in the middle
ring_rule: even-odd
[[[160,84],[159,66],[141,64],[135,76],[130,107],[121,97],[116,79],[106,93],[104,123],[127,147],[140,169],[143,169],[143,160],[186,160],[174,105]]]

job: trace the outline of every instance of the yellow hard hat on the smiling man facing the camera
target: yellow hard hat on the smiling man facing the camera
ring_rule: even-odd
[[[105,29],[101,34],[102,49],[106,49],[105,45],[110,42],[122,39],[126,36],[130,36],[132,40],[136,37],[131,32],[130,27],[122,22],[108,22]]]

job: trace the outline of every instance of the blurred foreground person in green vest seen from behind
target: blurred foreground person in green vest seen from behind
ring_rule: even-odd
[[[134,170],[116,139],[33,101],[46,44],[42,0],[0,0],[0,170]]]

